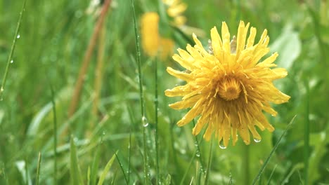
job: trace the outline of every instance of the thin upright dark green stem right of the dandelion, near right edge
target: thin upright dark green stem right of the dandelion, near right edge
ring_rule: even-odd
[[[304,121],[304,184],[309,184],[309,82],[305,82],[307,89],[305,100],[305,121]]]

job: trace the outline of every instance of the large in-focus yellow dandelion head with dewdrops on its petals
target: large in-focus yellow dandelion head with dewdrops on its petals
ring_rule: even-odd
[[[177,125],[186,125],[200,116],[193,128],[193,135],[207,128],[203,137],[209,140],[214,133],[221,148],[228,146],[231,136],[233,145],[236,144],[238,134],[245,144],[250,144],[250,132],[254,141],[259,142],[262,138],[255,126],[260,130],[274,130],[262,111],[276,116],[277,112],[270,103],[282,104],[290,99],[272,82],[288,74],[283,68],[273,68],[276,67],[273,62],[278,53],[260,62],[269,53],[266,29],[255,45],[256,29],[251,27],[247,38],[248,29],[249,23],[245,25],[241,21],[238,36],[233,36],[230,42],[228,27],[223,22],[221,36],[216,27],[211,29],[209,50],[205,50],[193,34],[195,46],[188,45],[186,50],[178,49],[179,55],[173,56],[187,70],[167,68],[169,74],[186,81],[186,85],[165,91],[168,97],[182,97],[180,102],[169,104],[169,107],[191,107]]]

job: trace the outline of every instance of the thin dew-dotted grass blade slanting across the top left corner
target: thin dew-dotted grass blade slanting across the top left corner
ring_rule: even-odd
[[[0,88],[0,100],[3,99],[2,95],[4,93],[4,88],[5,88],[6,81],[7,81],[9,66],[11,65],[11,60],[13,60],[13,53],[15,51],[16,40],[19,38],[18,33],[20,32],[20,23],[22,22],[22,15],[25,11],[26,1],[27,0],[24,1],[23,6],[22,6],[22,10],[20,11],[20,18],[18,18],[17,27],[16,27],[14,39],[13,39],[13,44],[11,45],[11,52],[9,53],[9,56],[8,56],[6,69],[5,69],[5,72],[4,72],[4,78],[2,78],[2,83],[1,83],[1,88]]]

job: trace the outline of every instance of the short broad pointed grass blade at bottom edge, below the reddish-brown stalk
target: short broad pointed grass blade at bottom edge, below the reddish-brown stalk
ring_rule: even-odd
[[[70,139],[70,178],[72,185],[82,185],[82,174],[78,163],[77,158],[77,148],[73,136]]]

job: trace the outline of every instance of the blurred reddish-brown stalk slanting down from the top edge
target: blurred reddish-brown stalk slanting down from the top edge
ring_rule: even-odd
[[[106,13],[108,12],[108,8],[110,7],[111,0],[105,0],[105,3],[103,4],[103,8],[101,10],[101,15],[99,15],[98,21],[96,22],[96,26],[93,29],[93,34],[91,36],[91,39],[89,40],[89,45],[86,50],[86,53],[84,55],[84,60],[82,62],[82,66],[79,71],[79,75],[77,78],[77,82],[75,83],[75,89],[73,91],[72,100],[70,102],[70,108],[68,111],[67,116],[70,118],[77,109],[77,105],[79,103],[80,95],[82,86],[84,84],[84,78],[86,76],[86,71],[89,67],[89,63],[91,60],[91,55],[93,53],[93,50],[96,46],[96,41],[98,38],[99,33],[101,32],[101,28],[103,27],[104,20],[106,18]]]

